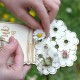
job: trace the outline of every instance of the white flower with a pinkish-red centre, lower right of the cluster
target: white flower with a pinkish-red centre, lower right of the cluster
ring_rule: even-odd
[[[72,66],[73,62],[77,59],[76,51],[69,52],[67,52],[66,50],[63,50],[61,52],[59,51],[58,56],[61,67]]]

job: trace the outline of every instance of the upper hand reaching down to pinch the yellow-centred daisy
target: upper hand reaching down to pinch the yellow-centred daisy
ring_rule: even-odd
[[[1,0],[15,16],[24,21],[32,29],[40,28],[49,35],[50,22],[55,18],[60,0]],[[41,24],[28,14],[33,8],[41,20]],[[48,12],[47,12],[47,10]]]

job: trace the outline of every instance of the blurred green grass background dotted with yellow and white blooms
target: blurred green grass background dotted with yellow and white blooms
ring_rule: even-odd
[[[37,20],[37,16],[32,11],[29,12]],[[80,40],[80,0],[62,0],[59,13],[56,19],[61,19],[68,26],[68,29],[77,33]],[[18,22],[2,3],[0,3],[0,21]],[[47,80],[45,75],[41,75],[35,65],[32,65],[31,70],[25,77],[25,80]],[[72,67],[60,68],[55,75],[49,75],[49,80],[80,80],[80,44],[78,45],[77,61]]]

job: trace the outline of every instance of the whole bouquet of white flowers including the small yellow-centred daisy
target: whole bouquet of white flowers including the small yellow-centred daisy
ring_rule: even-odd
[[[41,74],[55,74],[60,67],[70,67],[77,59],[79,40],[75,32],[67,29],[62,20],[50,25],[50,36],[46,39],[42,30],[35,30],[36,66]]]

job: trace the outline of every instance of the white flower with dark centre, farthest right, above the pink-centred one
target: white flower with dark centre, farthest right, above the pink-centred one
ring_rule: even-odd
[[[65,31],[66,35],[59,40],[56,40],[57,44],[59,45],[58,50],[77,50],[77,45],[79,40],[76,37],[76,33],[71,32],[69,30]]]

